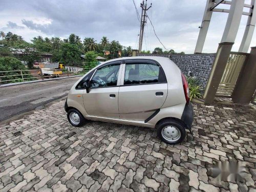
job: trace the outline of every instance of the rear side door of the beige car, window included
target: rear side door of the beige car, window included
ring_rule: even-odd
[[[120,119],[145,121],[161,108],[166,97],[166,78],[157,62],[125,61],[119,89]]]

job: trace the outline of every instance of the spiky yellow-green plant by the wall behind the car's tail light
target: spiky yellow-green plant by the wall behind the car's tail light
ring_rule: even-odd
[[[195,98],[202,98],[202,91],[203,88],[199,85],[199,81],[195,77],[186,77],[188,87],[189,87],[189,98],[195,99]]]

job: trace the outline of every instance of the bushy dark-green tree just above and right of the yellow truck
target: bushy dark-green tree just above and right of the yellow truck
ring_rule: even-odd
[[[61,50],[61,62],[71,66],[81,63],[80,55],[82,52],[77,45],[65,43],[62,45]]]

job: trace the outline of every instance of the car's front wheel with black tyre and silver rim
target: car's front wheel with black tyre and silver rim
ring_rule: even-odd
[[[68,120],[73,126],[82,126],[86,123],[86,119],[76,109],[70,109],[67,113]]]

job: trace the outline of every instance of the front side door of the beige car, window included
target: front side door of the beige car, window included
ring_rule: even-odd
[[[98,68],[90,80],[89,93],[84,91],[83,104],[90,116],[119,119],[118,92],[120,61]]]

